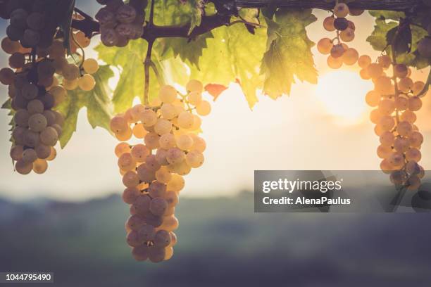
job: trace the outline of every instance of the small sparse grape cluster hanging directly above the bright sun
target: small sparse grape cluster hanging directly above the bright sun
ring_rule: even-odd
[[[332,69],[345,65],[354,65],[358,60],[358,51],[349,48],[346,43],[355,39],[355,25],[346,19],[347,15],[361,15],[363,10],[349,9],[344,3],[337,3],[333,9],[334,15],[325,18],[323,27],[329,32],[337,31],[334,39],[323,38],[318,42],[317,48],[327,57],[327,65]]]

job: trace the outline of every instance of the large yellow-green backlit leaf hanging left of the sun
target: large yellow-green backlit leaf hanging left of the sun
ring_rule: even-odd
[[[263,55],[261,74],[265,80],[263,92],[271,98],[289,94],[295,77],[300,81],[317,83],[306,26],[316,21],[311,9],[293,11],[279,9],[275,20],[267,19],[268,48]]]

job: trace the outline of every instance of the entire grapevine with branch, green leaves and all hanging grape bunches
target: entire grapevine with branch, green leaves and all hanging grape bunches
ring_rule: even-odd
[[[82,108],[92,127],[120,141],[115,155],[130,205],[126,241],[136,260],[173,256],[183,177],[204,162],[200,116],[211,103],[203,96],[215,101],[235,82],[253,108],[259,96],[290,94],[296,81],[318,82],[307,34],[316,21],[311,8],[330,13],[323,19],[330,36],[316,45],[327,65],[358,65],[374,84],[365,101],[373,108],[380,169],[397,188],[420,188],[424,136],[416,113],[431,84],[429,0],[96,3],[89,15],[75,0],[0,0],[9,65],[0,69],[8,89],[2,108],[12,116],[10,155],[20,174],[46,172]],[[351,45],[360,28],[353,19],[365,11],[375,19],[367,39],[380,55],[375,59]],[[86,56],[92,42],[98,58]],[[416,79],[417,70],[430,72],[426,81]]]

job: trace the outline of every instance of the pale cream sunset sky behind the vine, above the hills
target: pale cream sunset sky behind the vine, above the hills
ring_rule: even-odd
[[[94,15],[96,8],[92,5],[77,1],[77,7]],[[332,34],[322,26],[327,12],[315,12],[318,21],[308,26],[308,36],[318,42]],[[357,28],[356,39],[349,46],[377,58],[379,54],[366,42],[373,30],[373,18],[364,13],[352,20]],[[0,37],[4,37],[6,25],[5,20],[0,20]],[[92,46],[98,42],[94,38]],[[91,49],[86,53],[96,57]],[[316,47],[313,54],[320,75],[317,85],[298,82],[290,96],[277,101],[259,96],[259,102],[250,110],[239,87],[231,84],[212,103],[212,113],[202,119],[202,136],[207,144],[205,162],[185,177],[182,196],[233,196],[244,189],[252,190],[254,170],[378,170],[380,160],[375,151],[379,141],[364,100],[372,84],[359,77],[357,65],[330,70],[326,57]],[[6,64],[7,56],[0,52],[0,67]],[[425,79],[427,71],[415,71],[413,77]],[[111,84],[115,86],[115,81]],[[3,103],[7,90],[0,86]],[[429,97],[424,98],[417,122],[425,136],[425,169],[431,167]],[[0,197],[85,200],[123,191],[113,153],[118,141],[104,129],[92,129],[85,109],[80,111],[77,132],[42,175],[13,172],[9,120],[7,111],[0,110]]]

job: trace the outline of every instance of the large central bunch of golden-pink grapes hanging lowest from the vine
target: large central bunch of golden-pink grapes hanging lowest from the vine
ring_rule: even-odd
[[[111,120],[118,140],[118,167],[126,189],[123,200],[130,204],[125,223],[127,244],[135,260],[161,262],[173,255],[177,243],[175,205],[185,186],[183,176],[204,163],[206,143],[199,115],[208,115],[211,105],[202,98],[201,82],[192,79],[182,95],[172,86],[161,87],[149,105],[138,104]],[[132,136],[137,144],[128,144]]]

